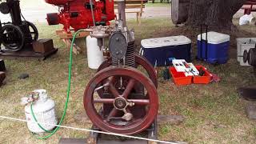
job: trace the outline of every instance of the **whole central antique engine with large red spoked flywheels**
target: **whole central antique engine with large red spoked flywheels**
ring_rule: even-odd
[[[126,26],[124,6],[125,1],[118,1],[121,17],[113,27],[94,26],[91,30],[107,60],[86,86],[84,108],[99,130],[117,134],[147,130],[156,138],[157,76],[150,62],[135,54],[134,32]]]

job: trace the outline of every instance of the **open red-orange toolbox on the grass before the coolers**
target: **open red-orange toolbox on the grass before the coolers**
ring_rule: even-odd
[[[185,76],[184,72],[177,72],[174,67],[170,67],[170,74],[174,79],[174,83],[178,86],[195,84],[208,84],[210,83],[211,74],[204,66],[195,66],[198,70],[202,68],[205,71],[203,76]]]

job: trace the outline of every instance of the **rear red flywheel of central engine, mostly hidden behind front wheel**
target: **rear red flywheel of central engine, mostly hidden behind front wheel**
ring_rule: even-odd
[[[111,64],[112,64],[111,59],[102,62],[102,65],[98,67],[98,71],[111,66]],[[158,88],[157,74],[154,70],[154,67],[150,64],[150,62],[148,62],[146,60],[146,58],[144,58],[138,54],[135,54],[135,64],[136,64],[136,67],[142,66],[146,70],[147,74],[149,74],[150,79],[154,83],[154,86]]]

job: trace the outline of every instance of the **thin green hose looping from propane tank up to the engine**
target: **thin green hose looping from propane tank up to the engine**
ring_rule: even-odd
[[[67,91],[66,91],[66,102],[65,102],[65,107],[64,107],[64,111],[63,111],[63,114],[62,114],[62,118],[61,120],[58,122],[58,126],[52,130],[52,131],[49,131],[49,130],[46,130],[44,129],[39,123],[38,123],[38,126],[42,129],[42,130],[45,130],[47,133],[50,133],[44,137],[36,137],[38,139],[46,139],[46,138],[50,138],[52,135],[54,135],[58,130],[59,130],[59,126],[62,125],[62,122],[66,116],[66,109],[67,109],[67,104],[69,102],[69,98],[70,98],[70,83],[71,83],[71,70],[72,70],[72,62],[73,62],[73,58],[72,58],[72,51],[73,51],[73,46],[74,46],[74,39],[76,37],[76,35],[81,32],[83,30],[78,30],[77,32],[74,33],[74,36],[72,38],[72,42],[71,42],[71,46],[70,46],[70,64],[69,64],[69,81],[68,81],[68,86],[67,86]],[[34,118],[34,121],[35,122],[38,122],[37,118],[35,118],[34,116],[34,111],[33,111],[33,103],[31,103],[30,105],[30,110],[31,110],[31,114]]]

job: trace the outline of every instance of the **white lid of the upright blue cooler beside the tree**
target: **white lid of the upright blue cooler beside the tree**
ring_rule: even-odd
[[[230,41],[230,35],[228,34],[221,34],[214,31],[210,31],[207,33],[208,37],[208,43],[211,44],[219,44],[223,42]],[[206,40],[206,33],[202,34],[202,39]],[[198,41],[201,40],[201,34],[198,35]]]

